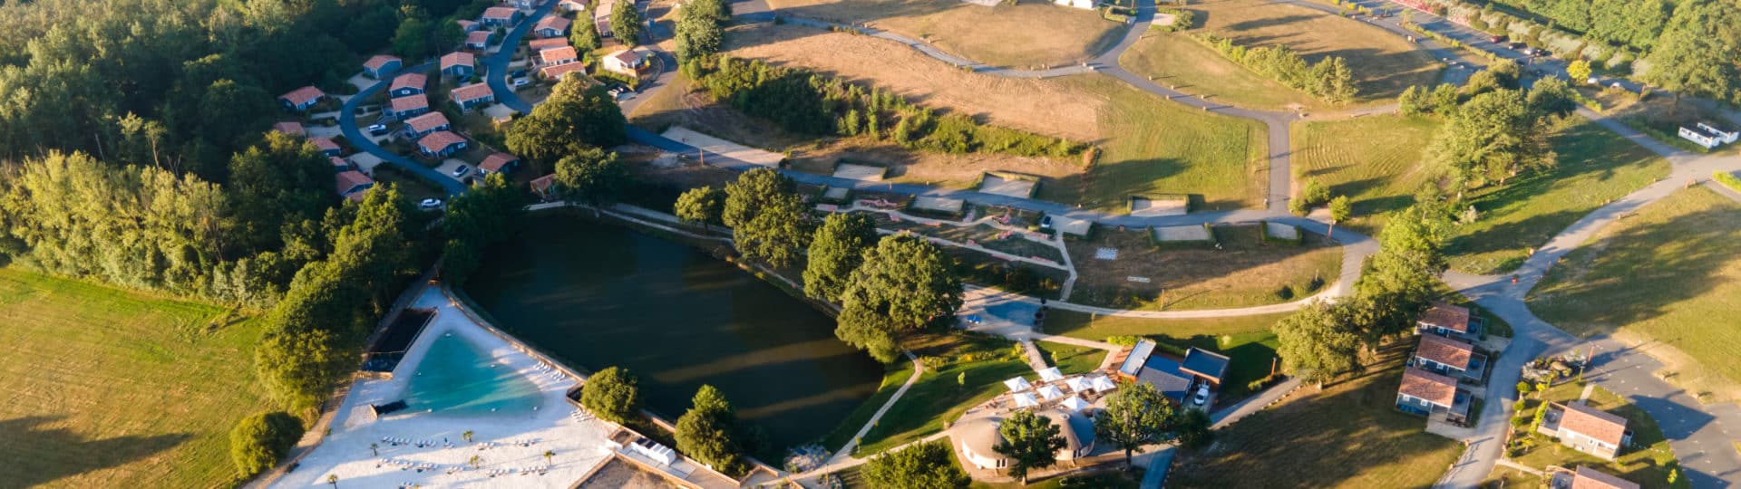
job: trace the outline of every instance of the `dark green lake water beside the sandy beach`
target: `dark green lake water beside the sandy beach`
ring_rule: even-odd
[[[569,364],[634,371],[667,419],[719,388],[775,447],[834,430],[883,378],[808,303],[693,247],[562,212],[533,214],[465,289]]]

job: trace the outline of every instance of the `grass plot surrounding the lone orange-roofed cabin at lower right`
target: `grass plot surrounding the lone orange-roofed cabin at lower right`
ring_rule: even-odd
[[[1530,399],[1525,400],[1525,412],[1534,412],[1536,405],[1541,405],[1543,400],[1560,404],[1576,402],[1583,392],[1583,383],[1558,385],[1549,388],[1544,395],[1530,395]],[[1579,452],[1539,433],[1529,435],[1532,447],[1525,449],[1523,454],[1515,456],[1513,459],[1534,468],[1544,468],[1549,465],[1588,465],[1600,468],[1602,472],[1619,475],[1621,479],[1638,482],[1644,487],[1691,487],[1685,477],[1680,477],[1675,484],[1668,484],[1668,472],[1678,463],[1675,461],[1675,449],[1668,445],[1668,439],[1663,437],[1663,430],[1657,428],[1656,419],[1650,419],[1650,414],[1645,414],[1644,409],[1631,405],[1626,399],[1600,386],[1590,393],[1590,407],[1626,418],[1626,430],[1633,432],[1631,445],[1623,447],[1621,454],[1614,458],[1614,461],[1603,461]]]

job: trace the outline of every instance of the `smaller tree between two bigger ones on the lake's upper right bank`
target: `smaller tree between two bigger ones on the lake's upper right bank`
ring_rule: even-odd
[[[864,254],[877,244],[876,223],[867,214],[830,214],[810,240],[804,263],[804,296],[839,301]]]

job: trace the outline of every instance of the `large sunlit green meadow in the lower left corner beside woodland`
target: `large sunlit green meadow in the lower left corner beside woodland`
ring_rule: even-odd
[[[230,426],[270,409],[259,325],[0,268],[0,486],[219,487]]]

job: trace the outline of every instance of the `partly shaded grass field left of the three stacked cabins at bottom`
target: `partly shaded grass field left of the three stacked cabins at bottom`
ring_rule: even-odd
[[[1388,348],[1365,376],[1304,386],[1274,407],[1217,432],[1205,452],[1182,452],[1168,487],[1428,487],[1462,444],[1396,411],[1407,346]]]

